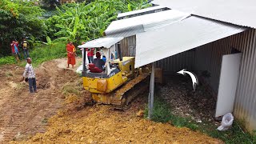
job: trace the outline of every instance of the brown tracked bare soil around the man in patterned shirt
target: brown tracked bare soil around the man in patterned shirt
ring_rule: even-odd
[[[73,70],[60,68],[58,63],[45,62],[35,68],[37,94],[30,94],[28,83],[20,82],[23,67],[0,67],[0,143],[46,131],[45,120],[63,106],[62,86],[78,78]]]

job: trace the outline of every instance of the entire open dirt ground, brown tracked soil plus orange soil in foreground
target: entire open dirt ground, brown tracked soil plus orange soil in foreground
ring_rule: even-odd
[[[38,66],[38,94],[33,95],[26,82],[19,82],[22,67],[0,67],[0,143],[222,143],[138,117],[146,98],[135,99],[126,111],[85,106],[88,92],[74,71],[62,67],[65,63],[58,59]]]

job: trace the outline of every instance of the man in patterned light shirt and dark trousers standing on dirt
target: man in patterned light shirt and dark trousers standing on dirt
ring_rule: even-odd
[[[30,86],[30,94],[37,93],[37,83],[35,80],[35,74],[32,66],[32,60],[31,58],[26,58],[26,66],[25,71],[23,73],[22,81],[24,81],[25,78],[28,78],[29,86]]]

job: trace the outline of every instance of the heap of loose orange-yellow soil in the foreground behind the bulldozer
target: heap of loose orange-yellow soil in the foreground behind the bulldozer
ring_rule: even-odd
[[[125,112],[103,105],[65,110],[50,118],[46,133],[18,143],[222,143],[188,128],[137,117],[144,102],[138,98]]]

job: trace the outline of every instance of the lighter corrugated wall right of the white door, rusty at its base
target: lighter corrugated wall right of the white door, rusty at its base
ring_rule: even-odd
[[[242,50],[242,65],[234,104],[234,115],[245,122],[248,130],[256,130],[256,30],[230,38],[230,46]]]

